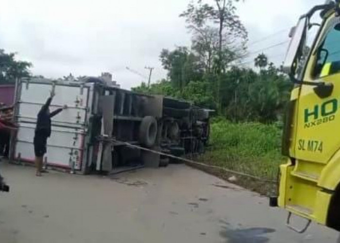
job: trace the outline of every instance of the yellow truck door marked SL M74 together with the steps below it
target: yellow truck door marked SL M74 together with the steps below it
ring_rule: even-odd
[[[304,75],[304,81],[324,85],[301,86],[293,145],[295,163],[286,185],[286,207],[320,223],[325,221],[324,204],[330,197],[320,180],[340,148],[339,19],[330,19],[324,26]]]

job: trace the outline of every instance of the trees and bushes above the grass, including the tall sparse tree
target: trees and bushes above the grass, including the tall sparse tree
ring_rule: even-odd
[[[262,52],[254,59],[259,71],[242,67],[248,57],[247,31],[233,1],[207,2],[191,1],[180,15],[191,34],[191,46],[161,51],[167,79],[133,90],[186,99],[230,121],[280,120],[291,82]]]

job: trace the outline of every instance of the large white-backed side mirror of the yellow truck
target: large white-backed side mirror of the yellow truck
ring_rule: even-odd
[[[307,27],[307,17],[299,19],[296,27],[290,30],[289,35],[291,35],[291,40],[289,43],[289,48],[286,54],[286,58],[283,64],[283,71],[287,74],[295,75],[295,70],[297,68],[297,54],[301,48],[302,42],[304,41],[304,35],[306,33]]]

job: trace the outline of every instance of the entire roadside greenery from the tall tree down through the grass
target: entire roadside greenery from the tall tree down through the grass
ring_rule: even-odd
[[[263,52],[253,59],[257,70],[242,67],[244,58],[249,57],[248,39],[234,1],[206,2],[191,1],[180,15],[191,34],[191,46],[161,51],[167,78],[150,87],[142,83],[133,90],[214,109],[213,116],[218,118],[211,125],[210,146],[198,159],[275,180],[283,160],[281,130],[275,122],[282,121],[292,83]],[[242,181],[241,185],[247,186],[247,180]]]

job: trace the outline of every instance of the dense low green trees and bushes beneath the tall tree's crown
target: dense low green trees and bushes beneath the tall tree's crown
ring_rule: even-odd
[[[216,79],[221,82],[219,96],[216,94]],[[186,99],[216,110],[215,115],[229,121],[271,123],[280,120],[291,87],[291,82],[270,65],[259,73],[252,69],[232,67],[220,75],[203,74],[200,79],[192,79],[181,88],[170,79],[152,84],[150,88],[142,83],[133,90]],[[220,104],[217,97],[221,98]]]

